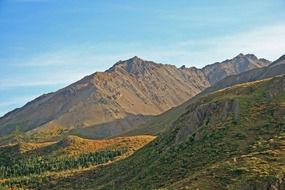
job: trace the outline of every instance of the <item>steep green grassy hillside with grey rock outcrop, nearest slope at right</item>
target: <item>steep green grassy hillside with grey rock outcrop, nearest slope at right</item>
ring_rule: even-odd
[[[134,155],[51,189],[273,189],[284,187],[285,77],[224,89],[190,104]]]

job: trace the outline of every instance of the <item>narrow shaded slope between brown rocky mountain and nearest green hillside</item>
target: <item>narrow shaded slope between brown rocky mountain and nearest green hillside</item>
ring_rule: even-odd
[[[221,90],[223,88],[231,87],[236,84],[262,80],[284,74],[285,74],[285,55],[281,56],[279,59],[277,59],[267,67],[256,68],[237,75],[228,76],[216,82],[209,88],[203,90],[201,93],[191,98],[189,101],[186,101],[185,103],[175,108],[172,108],[154,118],[151,118],[147,122],[137,125],[132,130],[121,134],[121,136],[140,135],[140,134],[159,135],[171,129],[173,122],[177,120],[181,114],[186,112],[186,108],[191,103],[197,101],[199,98],[203,96],[206,96],[210,93]]]

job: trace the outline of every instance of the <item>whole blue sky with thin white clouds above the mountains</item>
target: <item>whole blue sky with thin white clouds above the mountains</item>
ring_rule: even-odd
[[[284,0],[0,0],[0,116],[118,60],[285,54]]]

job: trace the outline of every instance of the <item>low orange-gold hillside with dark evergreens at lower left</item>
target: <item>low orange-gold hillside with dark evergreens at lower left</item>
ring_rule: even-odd
[[[51,182],[51,178],[110,164],[131,155],[154,138],[145,135],[89,140],[68,136],[58,142],[0,146],[0,184],[12,189],[26,189],[27,185],[42,189],[39,183],[43,180]]]

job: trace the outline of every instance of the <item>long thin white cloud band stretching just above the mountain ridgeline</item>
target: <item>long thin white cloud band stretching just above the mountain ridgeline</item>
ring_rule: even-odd
[[[17,63],[19,67],[41,68],[44,72],[29,73],[32,76],[11,80],[2,79],[0,89],[18,86],[67,85],[95,71],[106,70],[118,60],[128,59],[134,55],[156,62],[196,67],[222,61],[239,53],[254,53],[259,57],[275,60],[285,54],[284,34],[285,25],[276,24],[231,36],[193,39],[150,48],[125,44],[126,48],[117,53],[100,53],[97,51],[98,46],[80,47],[78,50],[66,48],[63,51],[45,53],[26,61],[19,61]],[[117,46],[122,44],[112,47],[117,49]]]

